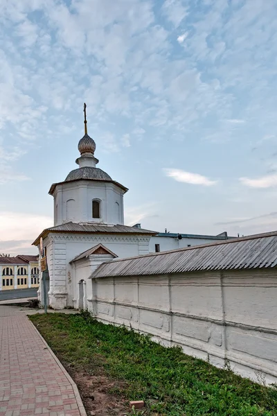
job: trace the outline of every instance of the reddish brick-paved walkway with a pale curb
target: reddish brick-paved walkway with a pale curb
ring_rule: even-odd
[[[24,311],[0,306],[0,416],[86,416],[78,389]]]

